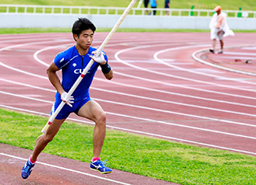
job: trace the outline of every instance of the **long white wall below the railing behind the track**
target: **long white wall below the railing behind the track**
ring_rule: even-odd
[[[0,13],[0,28],[70,28],[79,17],[87,17],[98,28],[112,28],[120,16],[77,14]],[[120,27],[159,29],[208,29],[210,17],[197,16],[127,16]],[[256,30],[256,19],[227,18],[230,29]]]

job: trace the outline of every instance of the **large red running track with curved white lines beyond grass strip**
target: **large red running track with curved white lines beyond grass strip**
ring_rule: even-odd
[[[95,33],[93,47],[107,34]],[[45,71],[55,54],[74,44],[71,33],[0,40],[0,107],[48,116],[55,89]],[[254,40],[255,33],[236,33],[224,42]],[[104,49],[114,79],[98,72],[90,91],[108,114],[108,128],[256,155],[256,78],[191,58],[210,47],[209,33],[115,33]]]

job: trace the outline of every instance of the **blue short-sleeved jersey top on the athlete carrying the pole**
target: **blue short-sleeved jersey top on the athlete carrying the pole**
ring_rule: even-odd
[[[84,68],[91,61],[89,55],[95,50],[96,48],[89,47],[88,53],[83,56],[78,54],[76,46],[73,46],[56,55],[54,62],[55,65],[62,70],[62,87],[66,92],[69,92],[69,89],[71,89],[73,84],[76,82],[76,79],[78,79]],[[103,54],[105,56],[105,61],[108,61],[107,55],[104,52]],[[81,80],[80,84],[76,87],[72,94],[74,99],[81,99],[87,96],[89,93],[89,87],[91,86],[91,82],[94,79],[98,66],[98,62],[94,62],[94,64],[88,70],[87,74],[84,76],[84,79]]]

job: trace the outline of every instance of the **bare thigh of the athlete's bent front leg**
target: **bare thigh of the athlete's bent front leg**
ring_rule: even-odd
[[[91,99],[85,103],[84,106],[81,106],[77,115],[95,121],[98,119],[98,117],[101,117],[102,113],[104,113],[104,110],[101,108],[101,106],[93,99]]]

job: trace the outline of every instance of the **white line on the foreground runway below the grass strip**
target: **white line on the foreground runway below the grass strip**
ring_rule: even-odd
[[[21,157],[17,157],[15,155],[5,154],[5,153],[2,153],[2,152],[0,152],[0,155],[4,155],[4,156],[11,157],[11,158],[14,158],[14,159],[20,159],[20,160],[23,160],[23,161],[27,161],[27,159],[24,159],[24,158],[21,158]],[[66,171],[69,171],[69,172],[72,172],[72,173],[80,173],[80,174],[85,175],[85,176],[91,176],[91,177],[94,177],[94,178],[97,178],[97,179],[100,179],[100,180],[106,180],[106,181],[109,181],[109,182],[112,182],[112,183],[119,183],[119,184],[124,184],[124,185],[130,185],[130,183],[123,183],[123,182],[120,182],[120,181],[117,181],[117,180],[111,180],[111,179],[108,179],[108,178],[105,178],[105,177],[101,177],[101,176],[94,176],[94,175],[92,175],[90,173],[84,173],[84,172],[77,171],[75,169],[64,168],[62,166],[55,166],[55,165],[51,165],[51,164],[48,164],[48,163],[45,163],[45,162],[37,161],[37,164],[41,164],[41,165],[44,165],[44,166],[49,166],[49,167],[56,168],[56,169],[66,170]]]

